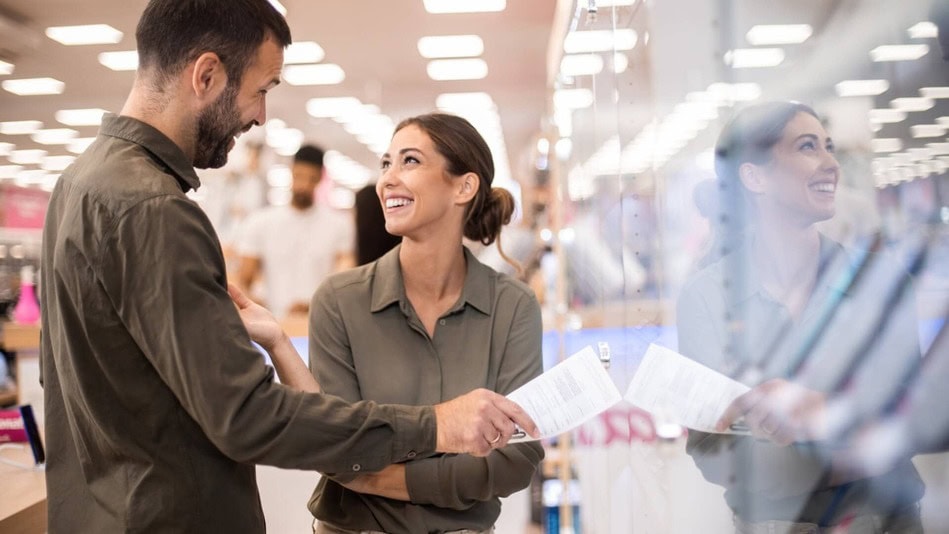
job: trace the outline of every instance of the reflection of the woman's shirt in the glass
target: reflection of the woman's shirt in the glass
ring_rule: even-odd
[[[858,284],[848,287],[841,283],[854,274],[856,263],[839,244],[822,236],[821,276],[801,317],[794,321],[787,308],[761,285],[759,273],[743,263],[747,250],[746,244],[686,284],[676,312],[679,352],[751,386],[794,376],[811,389],[840,394],[859,382],[862,389],[857,389],[875,390],[857,399],[862,405],[856,406],[858,410],[867,410],[868,405],[887,409],[889,401],[900,395],[893,388],[905,384],[920,358],[911,287],[892,308],[887,308],[882,290],[861,291],[858,300],[857,294],[850,293],[861,289]],[[886,267],[877,263],[886,261],[877,256],[882,255],[866,256],[870,259],[865,264],[865,277],[877,267]],[[906,282],[905,273],[895,281],[897,285]],[[886,335],[877,342],[886,343],[887,350],[852,350],[871,332],[860,332],[855,330],[857,324],[841,325],[838,321],[844,314],[859,311],[855,307],[860,306],[880,306],[886,314],[887,326],[880,327]],[[845,361],[851,353],[856,360]],[[878,377],[876,383],[870,381],[871,375]],[[844,387],[838,378],[847,376]],[[815,442],[779,447],[751,437],[690,431],[688,451],[706,479],[725,487],[728,505],[747,521],[830,525],[848,512],[885,515],[918,501],[923,493],[922,482],[908,459],[879,477],[830,487],[828,449]]]

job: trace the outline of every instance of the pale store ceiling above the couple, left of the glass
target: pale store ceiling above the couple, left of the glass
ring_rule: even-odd
[[[461,0],[460,0],[461,1]],[[45,128],[62,128],[60,109],[121,109],[133,72],[114,72],[97,56],[104,51],[135,47],[135,24],[145,0],[0,0],[0,60],[14,63],[0,80],[53,77],[65,91],[51,96],[16,96],[0,91],[0,121],[39,120]],[[340,65],[345,80],[329,86],[281,84],[268,98],[268,117],[301,129],[307,142],[335,149],[375,169],[377,158],[365,145],[330,119],[313,119],[308,99],[355,96],[375,104],[393,121],[435,108],[441,93],[485,91],[498,106],[517,178],[519,162],[541,127],[546,112],[546,50],[554,16],[554,0],[509,0],[498,13],[429,14],[422,0],[283,0],[294,41],[316,41],[325,63]],[[122,31],[114,45],[64,46],[47,38],[45,28],[77,24],[108,24]],[[426,35],[477,34],[484,40],[488,75],[482,80],[432,81],[427,60],[416,48]],[[97,127],[76,128],[80,137]],[[50,155],[65,147],[37,145],[29,136],[0,135],[0,143],[16,149],[41,148]],[[0,165],[7,162],[0,158]]]

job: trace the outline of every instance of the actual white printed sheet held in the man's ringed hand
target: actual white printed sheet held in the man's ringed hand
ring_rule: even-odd
[[[575,428],[622,398],[590,347],[558,363],[507,397],[531,416],[541,438]]]

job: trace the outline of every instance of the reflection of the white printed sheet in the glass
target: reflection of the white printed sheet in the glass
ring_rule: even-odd
[[[650,344],[625,398],[663,422],[715,432],[728,405],[748,390],[678,352]]]

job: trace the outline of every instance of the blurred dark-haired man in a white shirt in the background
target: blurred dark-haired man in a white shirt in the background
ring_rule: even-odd
[[[237,283],[250,291],[262,276],[261,300],[276,317],[307,313],[327,275],[355,266],[352,216],[316,203],[323,150],[301,147],[291,173],[290,204],[252,213],[235,239]]]

